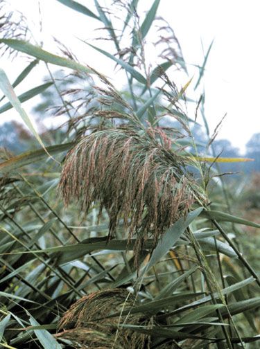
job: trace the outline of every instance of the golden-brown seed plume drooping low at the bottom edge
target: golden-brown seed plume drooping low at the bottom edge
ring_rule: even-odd
[[[107,289],[80,298],[60,320],[59,328],[64,331],[58,333],[58,337],[72,339],[86,346],[83,348],[145,348],[146,335],[119,328],[121,323],[141,324],[138,315],[105,319],[134,303],[135,297],[126,289]]]

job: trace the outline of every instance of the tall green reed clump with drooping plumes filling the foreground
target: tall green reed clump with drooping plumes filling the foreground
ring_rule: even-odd
[[[58,39],[56,54],[19,36],[32,32],[15,12],[0,17],[2,52],[27,57],[12,84],[0,70],[0,114],[12,109],[31,134],[28,151],[0,154],[0,346],[258,348],[259,264],[245,237],[259,224],[238,217],[218,171],[250,159],[215,153],[202,86],[211,45],[201,65],[187,64],[159,0],[146,14],[138,1],[53,3],[96,23],[101,35],[81,38],[83,49],[123,83]],[[47,78],[28,86],[39,64]],[[22,106],[37,95],[38,131]]]

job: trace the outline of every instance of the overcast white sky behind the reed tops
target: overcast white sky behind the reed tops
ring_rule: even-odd
[[[13,8],[23,12],[29,21],[34,22],[34,33],[36,33],[36,30],[39,30],[38,1],[9,0],[8,2]],[[94,9],[92,0],[78,0],[78,2]],[[142,12],[148,10],[153,1],[139,0],[139,3],[139,9]],[[50,40],[53,35],[71,47],[80,60],[106,75],[111,74],[114,79],[111,62],[102,55],[94,53],[91,48],[87,48],[87,45],[83,46],[76,39],[76,37],[83,39],[92,37],[94,28],[99,26],[97,21],[80,15],[55,0],[40,0],[40,6],[45,49],[57,52]],[[207,119],[213,131],[223,115],[227,113],[218,138],[229,139],[242,151],[252,134],[260,132],[259,11],[259,0],[161,0],[157,12],[175,30],[175,35],[182,46],[184,59],[188,63],[201,65],[203,60],[201,43],[207,51],[214,39],[205,73]],[[101,42],[96,46],[98,44]],[[17,60],[10,63],[3,58],[1,58],[1,66],[6,70],[11,81],[24,68],[19,66]],[[191,66],[190,75],[193,75],[193,70],[195,73],[195,68]],[[39,79],[37,81],[35,78],[34,76],[33,86],[40,84],[41,77],[37,75]],[[187,80],[183,84],[186,82]],[[114,83],[118,84],[116,80]],[[27,108],[30,104],[26,103],[24,107],[29,111]],[[6,116],[1,114],[2,120],[9,117],[10,114]]]

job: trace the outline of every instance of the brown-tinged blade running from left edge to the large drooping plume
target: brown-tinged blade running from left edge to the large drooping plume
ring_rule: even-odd
[[[48,154],[58,154],[64,152],[73,147],[73,143],[64,143],[58,145],[51,145],[46,147]],[[3,161],[0,163],[0,172],[7,173],[22,166],[28,165],[29,163],[35,163],[46,157],[46,152],[43,149],[33,150],[31,152],[24,152],[20,155],[14,156],[9,160]]]

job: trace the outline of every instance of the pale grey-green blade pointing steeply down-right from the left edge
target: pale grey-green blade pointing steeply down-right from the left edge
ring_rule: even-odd
[[[26,114],[26,111],[21,107],[21,102],[17,98],[15,91],[12,89],[12,85],[10,84],[10,81],[8,80],[8,77],[6,76],[6,73],[3,71],[3,69],[0,69],[0,89],[6,95],[8,100],[10,100],[12,107],[15,108],[17,113],[24,120],[24,123],[26,124],[28,129],[30,129],[37,141],[40,143],[40,145],[42,145],[42,147],[46,151],[44,143],[42,143],[42,139],[40,138],[39,134],[37,134],[37,131],[33,126],[31,118],[29,118],[29,116]]]

